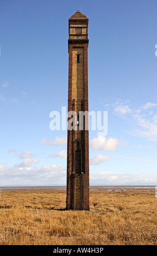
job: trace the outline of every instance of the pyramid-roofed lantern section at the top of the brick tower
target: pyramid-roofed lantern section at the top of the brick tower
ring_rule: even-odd
[[[88,18],[81,11],[76,11],[69,19],[69,43],[78,40],[88,43]]]

